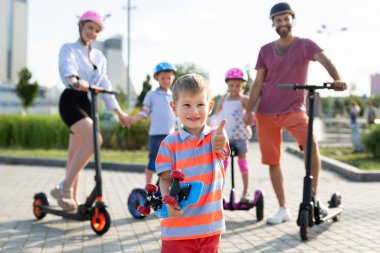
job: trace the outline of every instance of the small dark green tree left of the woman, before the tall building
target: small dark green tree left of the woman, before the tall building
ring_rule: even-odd
[[[39,85],[37,82],[29,82],[32,78],[32,73],[27,68],[23,68],[18,73],[18,76],[19,82],[16,86],[16,93],[20,98],[24,112],[26,113],[27,108],[33,104],[34,99],[38,94]]]

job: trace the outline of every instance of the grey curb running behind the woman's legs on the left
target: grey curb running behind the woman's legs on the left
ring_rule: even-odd
[[[45,167],[61,167],[65,168],[66,160],[64,159],[47,159],[47,158],[32,158],[32,157],[16,157],[16,156],[0,156],[0,164],[13,165],[38,165]],[[94,162],[90,162],[85,168],[93,169]],[[130,171],[144,173],[146,165],[139,163],[115,163],[102,162],[103,170],[112,171]]]

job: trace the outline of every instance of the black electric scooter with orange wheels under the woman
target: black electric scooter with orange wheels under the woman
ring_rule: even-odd
[[[105,90],[101,87],[90,86],[91,94],[91,118],[93,120],[93,144],[94,144],[94,159],[95,159],[95,187],[84,204],[78,206],[76,212],[66,212],[56,206],[50,206],[45,193],[40,192],[34,195],[33,214],[37,220],[43,219],[46,214],[62,216],[66,219],[85,221],[90,220],[91,228],[97,235],[105,234],[111,225],[111,217],[106,209],[106,204],[103,201],[102,193],[102,177],[101,177],[101,162],[99,151],[99,121],[97,115],[97,95],[99,93],[117,94],[116,91]]]

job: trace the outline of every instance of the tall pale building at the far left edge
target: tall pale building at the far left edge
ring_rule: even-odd
[[[0,1],[0,82],[2,83],[17,83],[18,72],[26,67],[27,22],[27,0]]]

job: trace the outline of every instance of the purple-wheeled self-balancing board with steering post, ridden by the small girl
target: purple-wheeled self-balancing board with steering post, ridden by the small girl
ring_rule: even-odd
[[[225,210],[249,210],[256,207],[256,219],[261,221],[264,218],[264,195],[261,190],[256,190],[254,194],[254,199],[248,201],[247,203],[236,202],[236,193],[235,193],[235,176],[234,176],[234,157],[237,154],[236,147],[232,146],[231,149],[231,191],[230,191],[230,200],[229,202],[223,199],[223,207]]]

